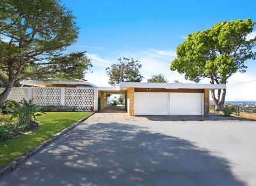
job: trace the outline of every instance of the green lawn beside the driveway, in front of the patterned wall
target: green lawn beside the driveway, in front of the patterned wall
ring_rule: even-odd
[[[12,162],[30,151],[41,142],[48,140],[74,122],[90,115],[91,112],[47,112],[38,116],[41,126],[29,134],[0,142],[0,167]],[[0,116],[2,117],[2,115]]]

